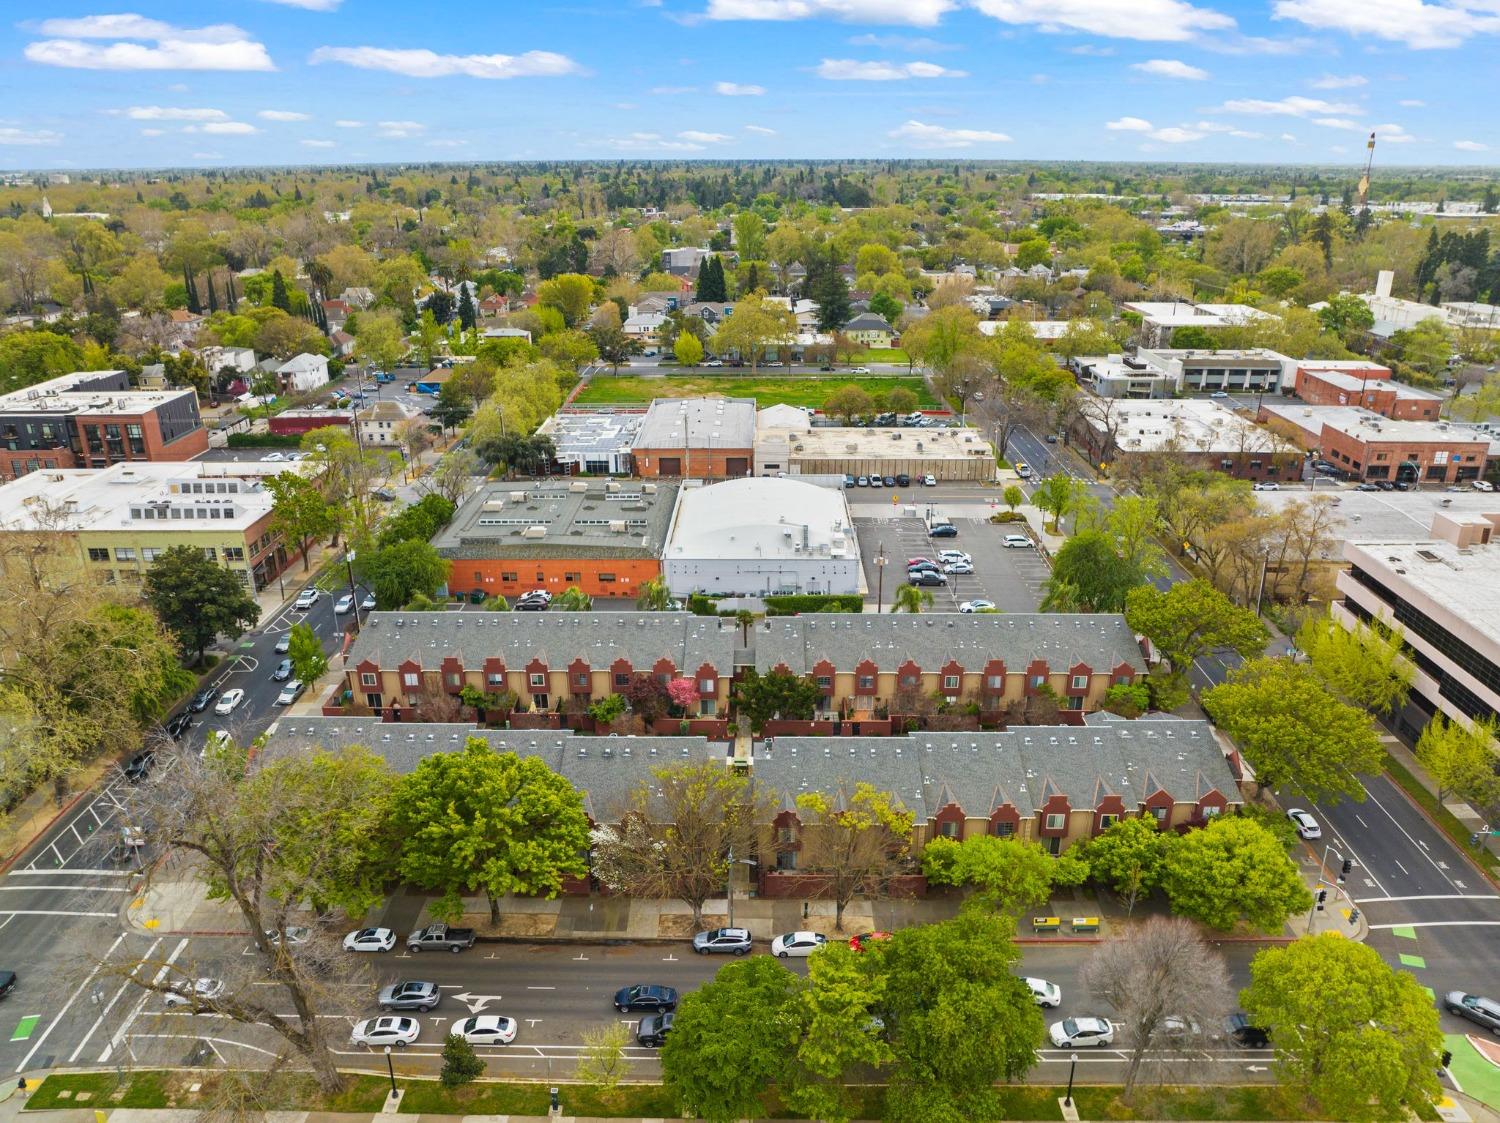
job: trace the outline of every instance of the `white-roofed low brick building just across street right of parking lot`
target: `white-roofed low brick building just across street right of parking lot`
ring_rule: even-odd
[[[1238,480],[1300,478],[1304,457],[1296,445],[1218,402],[1088,397],[1074,412],[1074,445],[1116,472],[1138,457],[1173,456]]]

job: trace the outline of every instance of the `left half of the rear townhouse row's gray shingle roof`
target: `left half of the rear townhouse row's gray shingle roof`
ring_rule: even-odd
[[[540,658],[566,667],[582,657],[594,667],[616,658],[650,669],[669,658],[686,673],[710,663],[734,672],[740,628],[681,612],[372,612],[350,648],[350,666],[366,660],[393,669],[408,658],[436,670],[447,655],[478,669],[486,658],[522,667]]]

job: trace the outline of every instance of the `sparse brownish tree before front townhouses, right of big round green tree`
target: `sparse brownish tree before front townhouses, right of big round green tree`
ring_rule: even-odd
[[[678,900],[704,924],[704,901],[722,897],[730,855],[747,856],[768,817],[747,777],[717,762],[652,769],[618,814],[591,835],[594,876],[630,897]]]

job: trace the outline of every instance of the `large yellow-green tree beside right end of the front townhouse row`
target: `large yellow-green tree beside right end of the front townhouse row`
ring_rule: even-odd
[[[1370,715],[1340,702],[1311,667],[1257,658],[1203,693],[1203,708],[1270,787],[1299,789],[1314,802],[1365,798],[1359,772],[1380,772],[1384,753]]]

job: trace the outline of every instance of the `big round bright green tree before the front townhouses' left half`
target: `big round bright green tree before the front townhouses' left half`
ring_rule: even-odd
[[[393,837],[400,876],[441,897],[435,916],[458,919],[464,894],[489,898],[500,924],[506,894],[556,897],[588,873],[584,796],[538,757],[495,753],[470,738],[459,753],[434,753],[396,784]]]

